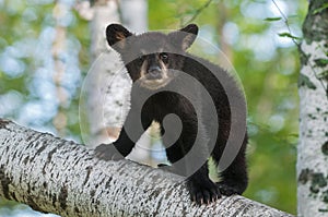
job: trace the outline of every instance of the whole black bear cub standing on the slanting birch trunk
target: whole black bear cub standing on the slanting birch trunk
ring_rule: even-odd
[[[113,145],[125,157],[152,121],[159,122],[173,171],[187,176],[191,201],[208,204],[222,194],[242,194],[247,186],[246,103],[225,70],[186,52],[197,34],[195,24],[168,34],[141,35],[119,24],[107,26],[107,41],[120,53],[133,82],[131,109]],[[242,128],[242,134],[233,133],[234,124]],[[108,159],[112,147],[101,145],[95,154]],[[226,147],[232,148],[225,153]],[[221,158],[223,165],[232,158],[220,168],[218,183],[209,179],[210,156],[218,167]]]

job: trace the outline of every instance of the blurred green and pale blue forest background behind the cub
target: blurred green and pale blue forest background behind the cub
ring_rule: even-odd
[[[0,0],[0,117],[84,142],[79,105],[96,59],[96,7],[113,9],[112,3],[117,22],[132,26],[133,16],[143,19],[136,32],[197,23],[199,35],[225,53],[248,104],[249,186],[244,195],[295,214],[300,62],[296,46],[284,36],[302,37],[305,0]],[[215,58],[215,52],[208,55]],[[0,216],[50,215],[0,198]]]

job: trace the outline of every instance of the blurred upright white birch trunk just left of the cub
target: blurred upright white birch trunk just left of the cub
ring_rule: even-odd
[[[97,0],[92,7],[91,53],[92,67],[83,86],[89,131],[83,130],[86,145],[95,147],[116,138],[115,129],[122,125],[129,109],[131,82],[120,57],[106,41],[105,29],[110,23],[120,23],[115,0]],[[82,121],[82,123],[85,123]],[[85,125],[82,126],[82,129]],[[107,134],[107,129],[109,135]],[[117,132],[116,132],[117,133]]]

